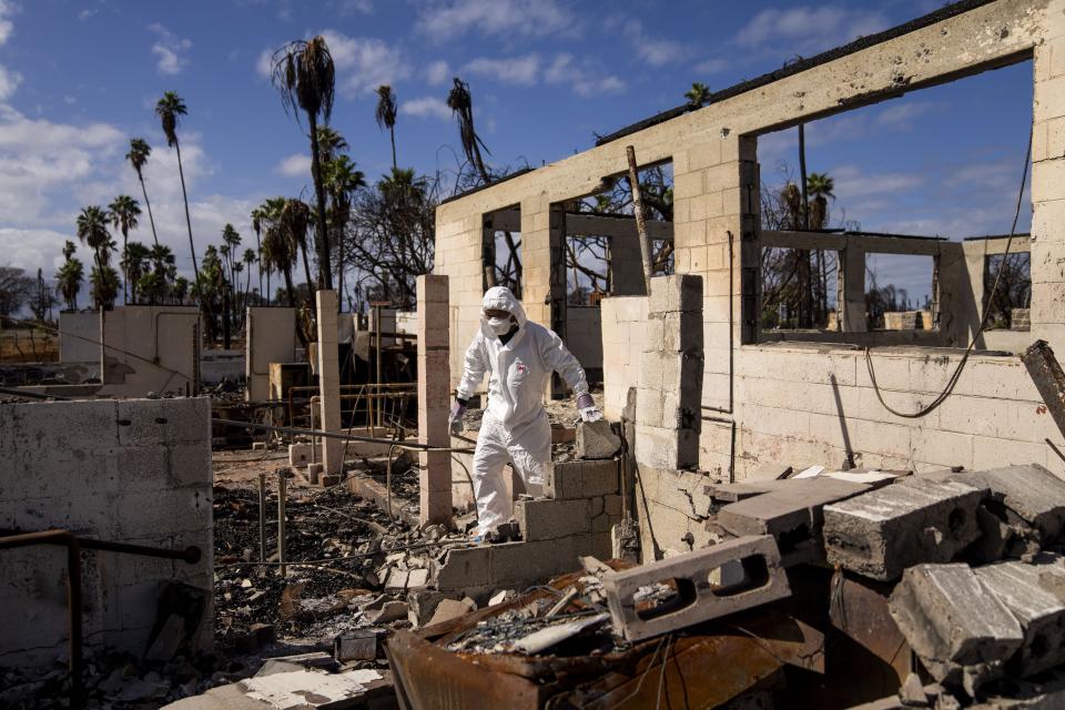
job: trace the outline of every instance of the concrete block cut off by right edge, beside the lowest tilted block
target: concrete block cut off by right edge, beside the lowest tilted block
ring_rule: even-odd
[[[1065,605],[1055,594],[1065,589],[1059,557],[1046,555],[1034,564],[997,562],[973,571],[1024,631],[1024,645],[1006,667],[1011,676],[1027,677],[1065,662]]]

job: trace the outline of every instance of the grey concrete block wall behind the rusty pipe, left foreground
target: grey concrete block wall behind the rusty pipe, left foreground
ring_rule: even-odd
[[[211,404],[206,398],[0,405],[0,528],[183,549],[196,565],[84,552],[88,647],[141,655],[169,581],[213,584]],[[0,667],[65,652],[65,552],[0,554]],[[213,604],[200,647],[213,640]]]

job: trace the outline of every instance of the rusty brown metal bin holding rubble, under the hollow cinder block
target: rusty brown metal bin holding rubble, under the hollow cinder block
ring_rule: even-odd
[[[608,562],[615,569],[631,565]],[[556,590],[580,587],[585,572]],[[397,693],[412,710],[506,708],[713,708],[772,679],[784,666],[824,670],[824,635],[795,606],[779,604],[689,627],[604,655],[459,653],[447,643],[481,619],[550,596],[537,589],[508,604],[388,641]],[[822,607],[823,607],[822,601]]]

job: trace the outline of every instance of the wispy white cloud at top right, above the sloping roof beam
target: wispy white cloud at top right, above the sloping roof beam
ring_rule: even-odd
[[[881,12],[845,7],[769,9],[755,14],[737,34],[741,47],[772,45],[778,53],[810,53],[843,44],[889,27]]]

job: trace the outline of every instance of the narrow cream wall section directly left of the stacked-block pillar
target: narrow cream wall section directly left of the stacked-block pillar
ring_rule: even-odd
[[[647,332],[647,296],[604,298],[602,412],[611,422],[621,418],[629,387],[639,382],[640,354]]]

